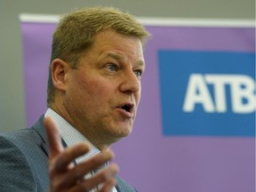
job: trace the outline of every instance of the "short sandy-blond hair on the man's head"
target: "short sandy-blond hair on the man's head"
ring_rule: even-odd
[[[52,60],[60,59],[77,68],[84,52],[92,48],[94,37],[102,31],[112,29],[116,33],[137,37],[142,45],[148,32],[132,15],[120,12],[113,7],[92,7],[63,15],[52,39]],[[54,86],[49,70],[47,105],[54,100]]]

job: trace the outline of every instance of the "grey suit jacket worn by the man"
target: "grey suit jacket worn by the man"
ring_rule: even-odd
[[[43,119],[41,116],[31,128],[0,134],[0,191],[48,190],[49,146]],[[120,177],[116,180],[118,192],[136,191]]]

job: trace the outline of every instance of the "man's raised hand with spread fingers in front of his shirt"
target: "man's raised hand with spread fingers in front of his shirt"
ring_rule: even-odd
[[[45,117],[44,126],[50,145],[50,192],[81,192],[90,191],[93,188],[99,192],[111,191],[116,185],[115,175],[118,172],[116,164],[110,164],[91,178],[84,179],[84,175],[113,159],[114,154],[110,149],[101,151],[98,155],[75,165],[75,159],[90,150],[89,145],[80,143],[71,148],[63,148],[60,132],[51,117]]]

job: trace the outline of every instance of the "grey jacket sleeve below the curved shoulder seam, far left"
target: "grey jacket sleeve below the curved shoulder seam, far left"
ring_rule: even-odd
[[[36,191],[34,174],[19,145],[10,133],[0,136],[1,191]]]

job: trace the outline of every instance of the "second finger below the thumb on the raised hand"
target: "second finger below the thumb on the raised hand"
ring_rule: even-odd
[[[76,164],[76,166],[72,170],[70,170],[65,177],[63,177],[61,185],[63,186],[63,188],[69,188],[70,186],[75,185],[77,183],[77,180],[84,179],[84,175],[99,168],[102,164],[106,164],[113,157],[113,152],[111,150],[108,150],[100,152],[100,154],[97,154],[96,156],[92,156],[81,164]],[[111,170],[109,170],[109,172],[111,172]]]

